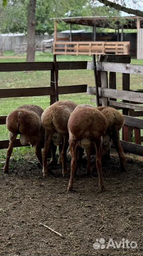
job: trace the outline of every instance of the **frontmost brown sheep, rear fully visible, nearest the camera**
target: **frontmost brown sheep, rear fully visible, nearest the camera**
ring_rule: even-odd
[[[96,151],[96,167],[99,175],[99,187],[105,191],[102,177],[101,154],[102,136],[107,129],[107,119],[92,105],[78,105],[71,113],[68,120],[69,147],[71,152],[71,173],[67,191],[73,189],[74,174],[76,171],[76,149],[82,146],[87,153],[87,172],[90,170],[91,146],[94,144]]]

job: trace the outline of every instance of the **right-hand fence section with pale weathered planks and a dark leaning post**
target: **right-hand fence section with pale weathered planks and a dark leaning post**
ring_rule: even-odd
[[[122,63],[120,63],[122,61]],[[123,63],[124,62],[124,63]],[[141,129],[143,129],[143,91],[130,90],[130,74],[143,75],[143,65],[132,65],[129,55],[101,55],[96,63],[99,87],[87,87],[87,93],[100,96],[102,106],[123,110],[125,125],[123,127],[122,146],[125,151],[143,156]],[[93,62],[88,62],[87,69],[94,70]],[[109,72],[109,83],[108,83]],[[116,90],[116,73],[122,73],[122,91]],[[140,91],[140,90],[139,90]],[[121,101],[117,101],[121,100]],[[139,105],[140,104],[140,105]],[[136,110],[136,111],[135,111]],[[131,116],[130,116],[131,115]],[[134,117],[132,117],[134,115]],[[132,143],[132,132],[135,131],[135,143]]]

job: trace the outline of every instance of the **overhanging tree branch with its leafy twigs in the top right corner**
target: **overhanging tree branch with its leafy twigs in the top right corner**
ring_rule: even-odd
[[[109,1],[109,0],[98,0],[99,2],[105,4],[106,6],[109,6],[111,8],[114,8],[114,9],[117,9],[117,10],[120,10],[120,11],[124,11],[126,13],[129,13],[129,14],[133,14],[133,15],[136,15],[136,16],[140,16],[140,17],[143,17],[143,11],[139,10],[139,9],[132,9],[132,8],[127,8],[126,7],[126,1],[125,0],[116,0],[116,2],[112,2],[112,1]],[[133,3],[138,3],[139,1],[142,1],[142,0],[133,0]],[[120,4],[118,4],[118,2],[120,2]],[[131,4],[131,2],[130,2]]]

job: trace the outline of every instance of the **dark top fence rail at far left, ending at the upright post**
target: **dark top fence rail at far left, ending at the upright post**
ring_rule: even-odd
[[[52,70],[53,62],[0,63],[0,72]]]

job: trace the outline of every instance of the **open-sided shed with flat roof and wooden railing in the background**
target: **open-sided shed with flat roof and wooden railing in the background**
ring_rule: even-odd
[[[141,47],[143,17],[69,17],[54,18],[54,22],[53,51],[55,54],[131,54],[137,58],[143,58]],[[68,37],[57,33],[57,23],[59,22],[66,22],[70,25]],[[93,32],[82,33],[80,37],[77,37],[72,33],[73,24],[93,27]],[[112,28],[115,29],[115,33],[99,34],[96,32],[97,27]],[[121,29],[121,33],[119,33],[119,29]],[[137,29],[137,33],[125,34],[124,29]]]

